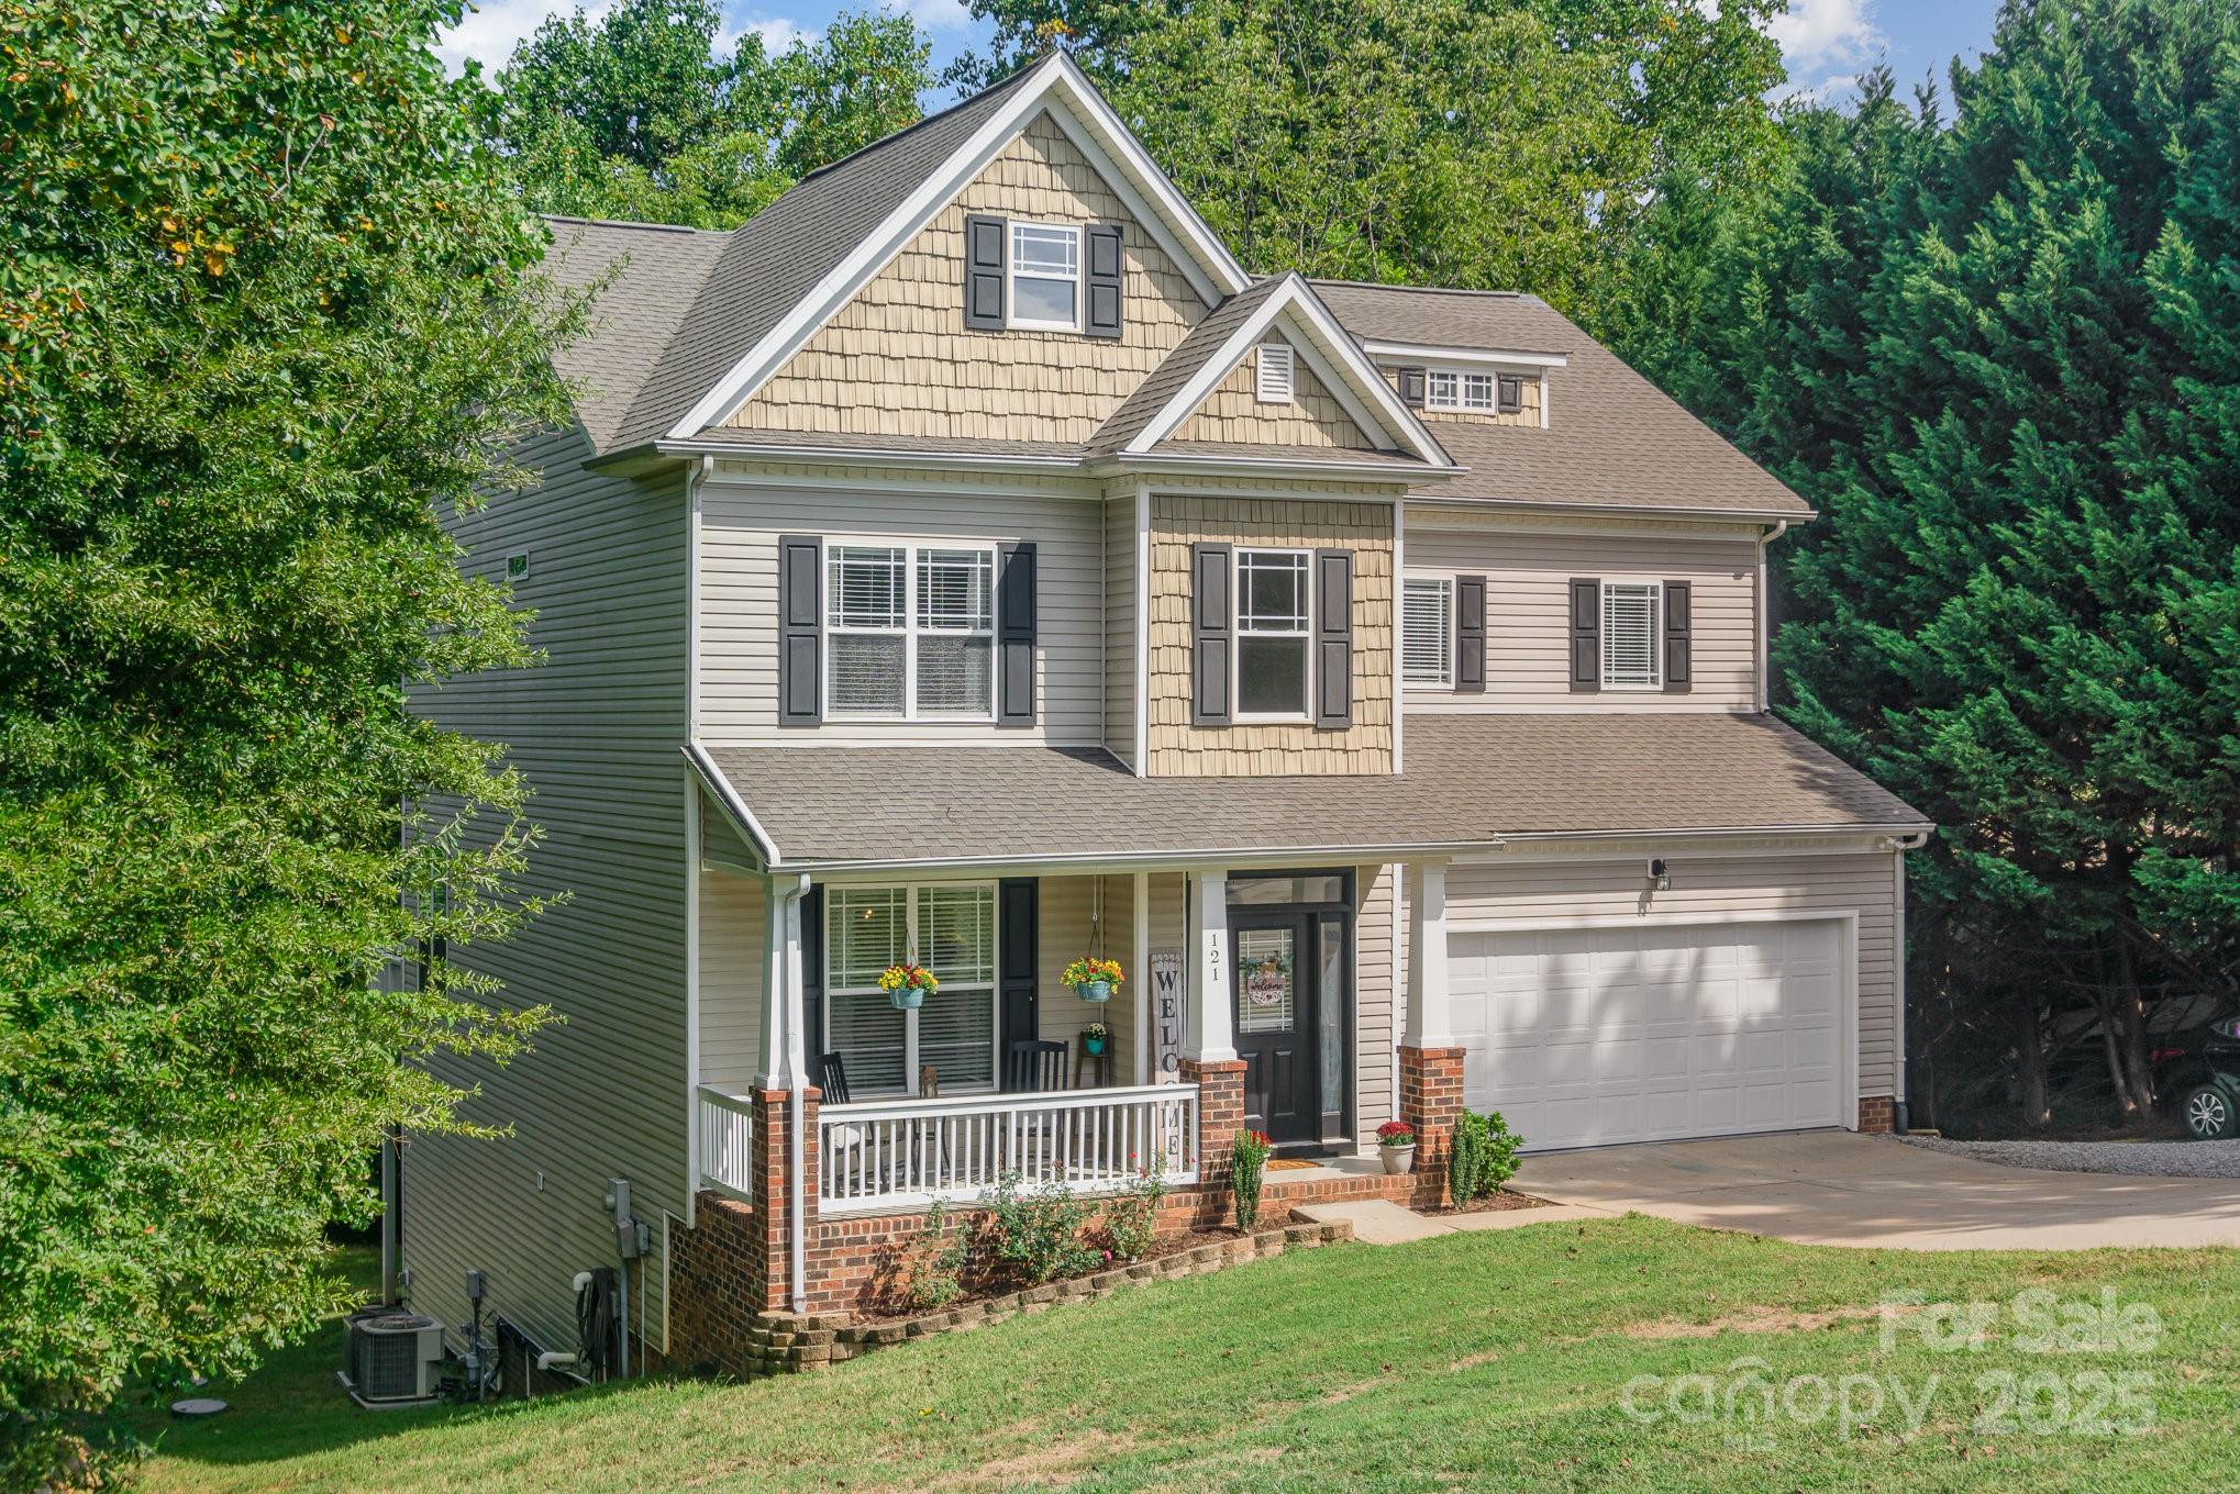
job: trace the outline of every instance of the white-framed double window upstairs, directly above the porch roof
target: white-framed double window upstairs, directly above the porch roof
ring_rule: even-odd
[[[827,715],[995,715],[995,549],[833,544],[827,598]]]

